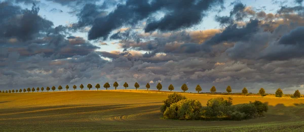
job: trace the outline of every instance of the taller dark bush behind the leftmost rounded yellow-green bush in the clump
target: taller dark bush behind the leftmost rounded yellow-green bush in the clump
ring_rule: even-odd
[[[178,101],[186,99],[185,96],[182,96],[181,94],[171,94],[168,95],[168,99],[163,101],[164,105],[161,107],[161,112],[164,113],[167,107],[170,107],[171,104],[177,103]]]

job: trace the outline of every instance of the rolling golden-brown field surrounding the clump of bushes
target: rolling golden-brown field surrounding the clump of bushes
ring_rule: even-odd
[[[304,131],[304,99],[237,96],[234,104],[269,104],[264,118],[243,121],[184,121],[161,118],[170,94],[154,91],[0,93],[0,131]],[[184,94],[204,106],[229,95]]]

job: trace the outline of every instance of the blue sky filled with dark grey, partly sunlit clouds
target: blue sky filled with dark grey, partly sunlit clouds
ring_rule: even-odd
[[[304,93],[303,0],[0,0],[0,90]]]

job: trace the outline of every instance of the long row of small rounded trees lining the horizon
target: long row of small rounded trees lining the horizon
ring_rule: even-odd
[[[119,86],[119,84],[118,84],[118,82],[117,81],[115,81],[114,83],[113,83],[113,87],[115,87],[115,90],[117,89],[117,87]],[[123,85],[124,87],[125,87],[125,89],[127,89],[127,87],[129,87],[129,84],[127,83],[127,82],[125,82],[124,83],[124,85]],[[80,86],[80,89],[82,90],[82,89],[84,89],[84,85],[83,84],[81,84]],[[87,87],[88,87],[88,89],[89,90],[91,90],[92,89],[92,84],[88,84],[87,85]],[[104,85],[103,85],[103,87],[107,90],[109,87],[110,87],[110,84],[108,83],[108,82],[106,82],[106,83],[104,83]],[[135,87],[135,89],[137,90],[138,88],[139,88],[139,84],[137,83],[137,82],[135,82],[135,84],[134,84],[134,87]],[[147,83],[146,85],[145,85],[145,87],[146,87],[146,89],[147,90],[149,90],[150,89],[150,84],[149,83]],[[98,91],[98,89],[100,89],[100,84],[99,83],[97,83],[96,85],[95,85],[95,88],[97,89],[97,91]],[[161,83],[158,83],[157,84],[157,86],[156,86],[156,88],[160,91],[160,90],[162,90],[163,89],[163,86],[162,86],[162,84]],[[52,88],[51,88],[53,91],[55,91],[56,90],[56,87],[55,86],[52,86]],[[49,91],[49,90],[51,90],[50,89],[50,87],[48,86],[47,87],[47,91]],[[62,88],[62,86],[61,85],[59,85],[58,86],[58,90],[59,91],[61,91],[63,88]],[[65,89],[66,89],[66,91],[69,89],[69,86],[68,85],[66,85],[65,86]],[[76,85],[73,85],[73,89],[74,89],[74,91],[75,91],[75,89],[77,89],[77,86]],[[27,88],[27,89],[23,89],[23,93],[24,92],[34,92],[34,91],[37,91],[37,92],[39,92],[40,90],[43,92],[44,91],[44,87],[41,87],[41,89],[39,88],[39,87],[37,87],[36,89],[34,88],[34,87],[32,87],[32,89],[30,89],[29,87]],[[170,84],[169,86],[168,86],[168,90],[169,91],[173,91],[174,90],[174,86],[172,85],[172,84]],[[188,90],[188,86],[184,83],[182,86],[181,86],[181,90],[183,91],[183,92],[185,92],[185,91],[187,91]],[[195,88],[195,90],[198,92],[198,93],[200,93],[201,91],[202,91],[202,88],[201,88],[201,86],[200,85],[197,85],[196,86],[196,88]],[[0,91],[0,93],[17,93],[17,92],[19,92],[19,93],[21,93],[22,92],[22,89],[20,89],[19,91],[18,90],[9,90],[9,91]],[[210,89],[210,92],[212,93],[212,94],[214,94],[215,92],[216,92],[216,88],[215,88],[215,86],[212,86],[211,87],[211,89]],[[228,93],[228,94],[230,94],[231,92],[232,92],[232,89],[231,89],[231,86],[229,85],[229,86],[227,86],[227,88],[226,88],[226,92]],[[263,89],[263,88],[261,88],[260,90],[259,90],[259,92],[258,92],[261,96],[265,96],[265,90]],[[246,87],[244,87],[244,89],[242,90],[242,94],[244,95],[244,96],[246,96],[247,94],[248,94],[248,90],[246,89]],[[276,91],[276,97],[282,97],[283,96],[283,91],[279,88],[277,91]],[[294,98],[300,98],[301,97],[301,94],[300,94],[300,92],[298,91],[298,90],[296,90],[295,91],[295,93],[293,94],[293,97]]]

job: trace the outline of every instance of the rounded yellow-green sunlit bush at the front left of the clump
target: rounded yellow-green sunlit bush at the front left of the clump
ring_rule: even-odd
[[[172,104],[164,112],[166,119],[194,120],[200,119],[202,104],[197,100],[181,100]]]

